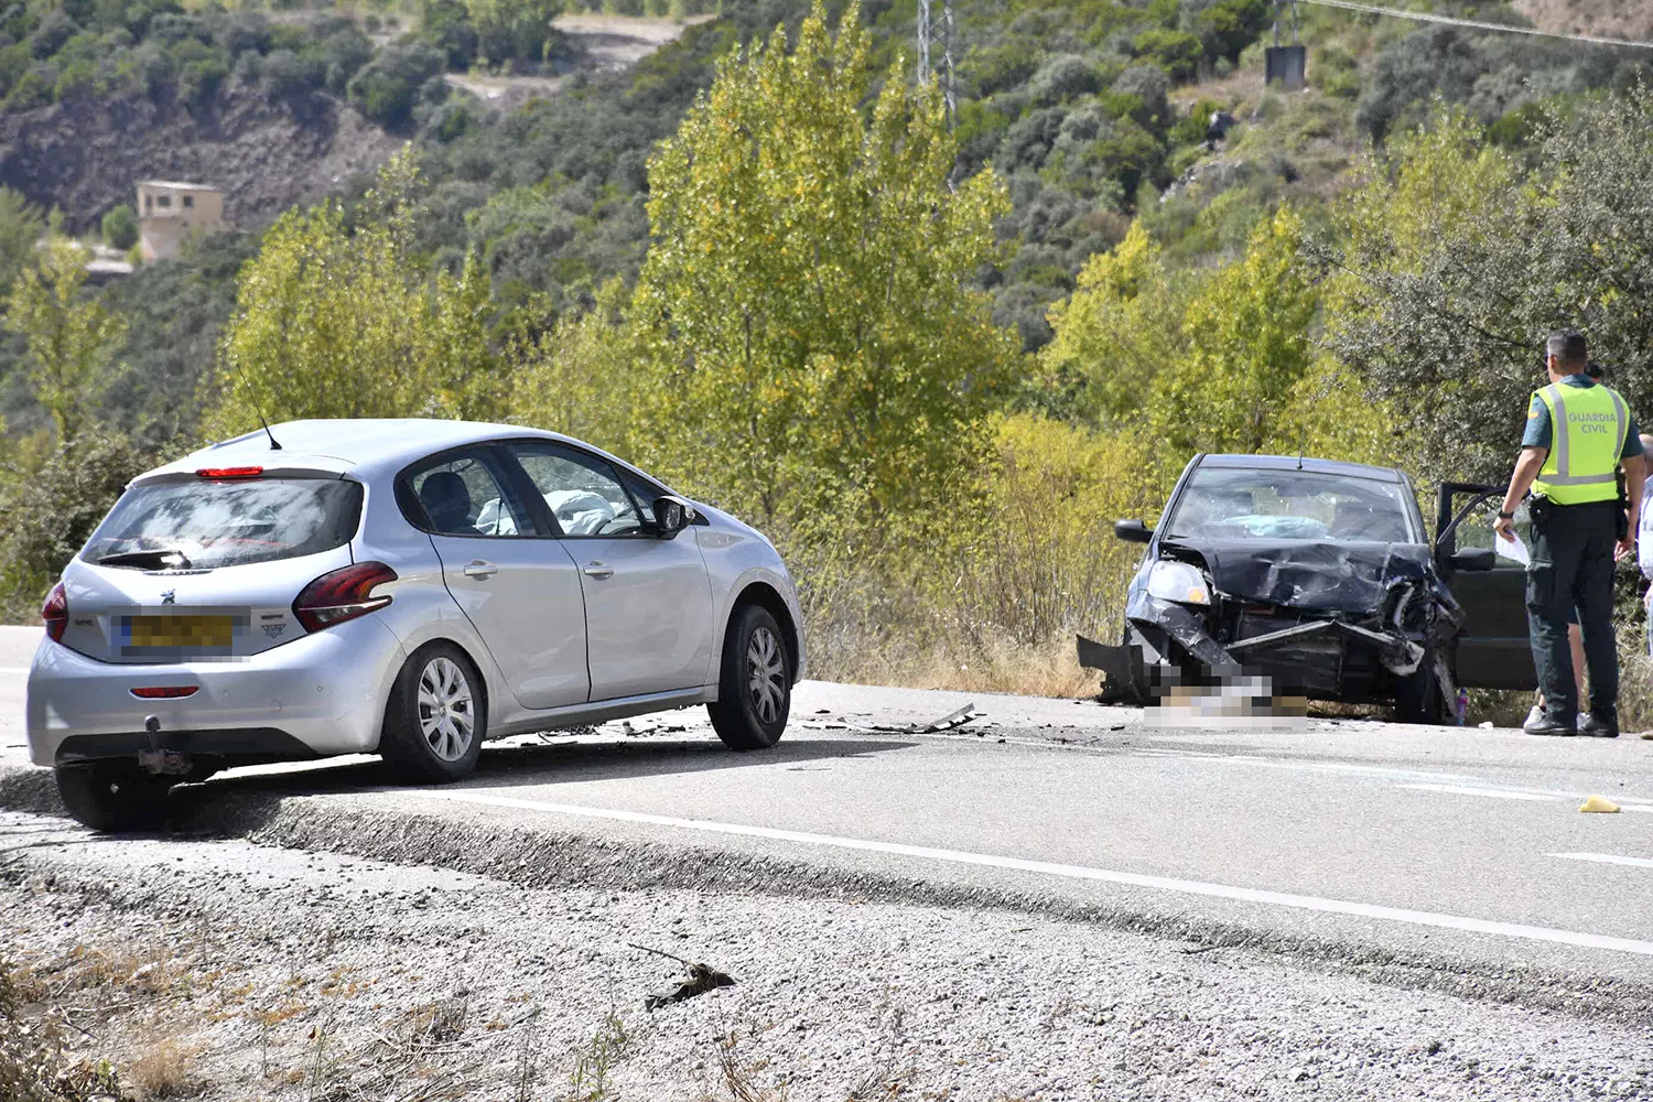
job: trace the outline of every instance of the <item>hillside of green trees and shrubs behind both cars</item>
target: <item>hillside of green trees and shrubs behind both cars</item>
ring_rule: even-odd
[[[326,36],[294,48],[293,12],[255,7],[167,17],[212,43],[167,46],[159,15],[99,31],[170,76],[116,66],[86,102],[195,119],[187,43],[236,58],[215,96],[274,102],[268,73]],[[1304,8],[1288,93],[1263,84],[1265,0],[982,0],[959,5],[949,117],[912,81],[914,8],[724,0],[511,111],[445,78],[554,73],[577,48],[560,5],[532,41],[486,30],[484,0],[372,8],[377,38],[304,10],[372,48],[349,74],[304,63],[304,94],[408,142],[339,202],[91,287],[88,226],[10,248],[46,200],[0,193],[10,615],[155,456],[258,415],[484,416],[764,524],[818,672],[1071,691],[1071,633],[1119,629],[1108,525],[1154,515],[1190,451],[1498,479],[1562,322],[1653,398],[1648,51]],[[230,51],[253,17],[268,36]],[[71,58],[53,96],[76,26],[41,40]],[[28,94],[0,126],[76,104]],[[1215,111],[1235,126],[1213,142]]]

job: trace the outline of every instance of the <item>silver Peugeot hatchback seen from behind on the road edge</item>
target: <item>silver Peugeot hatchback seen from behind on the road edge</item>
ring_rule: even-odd
[[[104,829],[231,765],[380,753],[448,781],[484,739],[689,704],[770,747],[803,667],[764,535],[464,421],[289,421],[149,471],[43,616],[30,755]]]

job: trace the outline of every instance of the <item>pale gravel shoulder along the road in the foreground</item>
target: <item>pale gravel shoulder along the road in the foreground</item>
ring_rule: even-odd
[[[1646,1026],[1036,915],[529,887],[15,813],[0,849],[0,943],[88,1049],[170,1052],[203,1099],[1653,1092]],[[683,970],[628,943],[737,983],[645,1011]]]

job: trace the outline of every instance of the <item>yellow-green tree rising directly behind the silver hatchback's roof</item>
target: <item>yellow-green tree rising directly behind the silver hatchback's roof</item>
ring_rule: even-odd
[[[364,225],[336,203],[291,210],[236,286],[208,435],[309,416],[463,416],[496,401],[488,274],[430,276],[412,251],[415,170],[400,154]]]

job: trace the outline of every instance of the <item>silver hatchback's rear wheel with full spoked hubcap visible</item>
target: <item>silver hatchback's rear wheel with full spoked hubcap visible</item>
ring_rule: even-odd
[[[431,643],[413,653],[390,691],[379,752],[398,772],[440,785],[476,768],[486,732],[476,666],[451,643]]]

